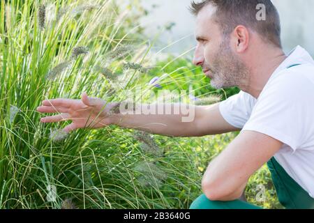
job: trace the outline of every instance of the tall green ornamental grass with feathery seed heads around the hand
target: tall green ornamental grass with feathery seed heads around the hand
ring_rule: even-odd
[[[130,11],[114,1],[89,7],[16,0],[1,1],[0,15],[0,208],[62,208],[69,201],[72,208],[188,208],[193,198],[186,196],[200,190],[188,152],[155,157],[132,131],[114,126],[63,134],[66,123],[40,123],[36,112],[44,99],[80,98],[83,91],[126,99],[121,90],[146,72],[135,63],[145,66],[151,48],[128,29]],[[121,77],[110,79],[100,67]]]

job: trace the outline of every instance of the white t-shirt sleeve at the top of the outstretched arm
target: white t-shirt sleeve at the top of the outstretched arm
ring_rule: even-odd
[[[233,95],[227,98],[227,100],[220,102],[220,114],[227,123],[241,129],[251,116],[254,100],[255,98],[248,93],[240,91],[237,95]]]

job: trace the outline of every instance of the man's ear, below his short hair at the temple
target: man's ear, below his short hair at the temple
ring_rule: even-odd
[[[248,48],[248,41],[250,40],[250,34],[246,26],[237,26],[232,33],[232,44],[236,52],[241,53]]]

